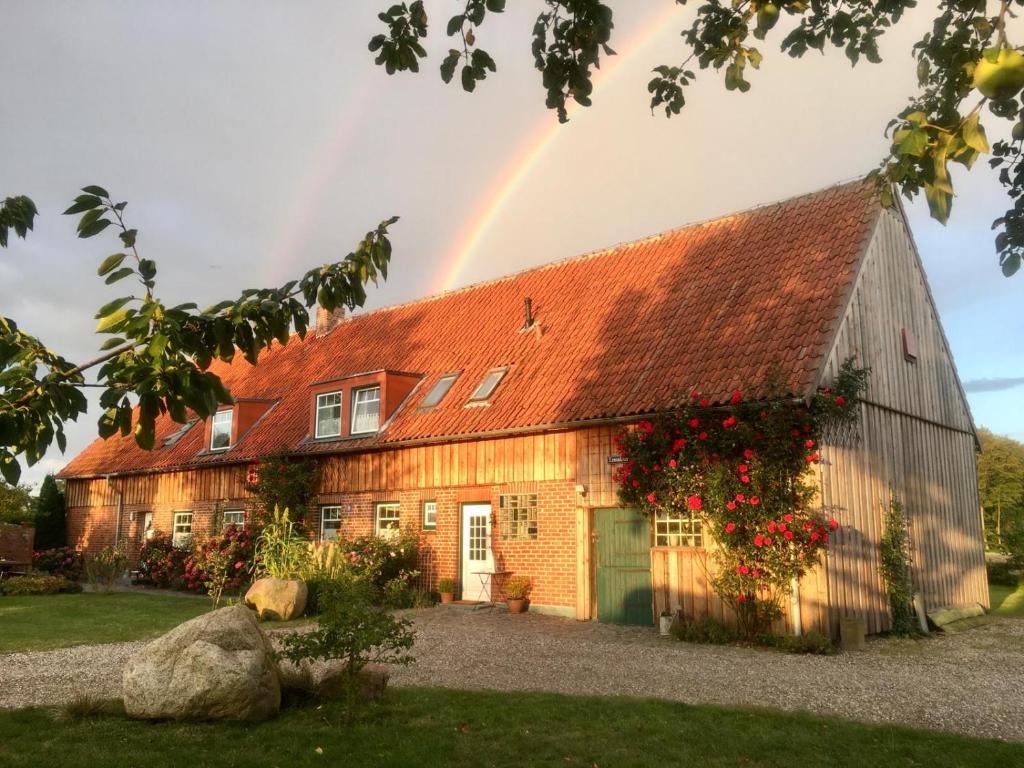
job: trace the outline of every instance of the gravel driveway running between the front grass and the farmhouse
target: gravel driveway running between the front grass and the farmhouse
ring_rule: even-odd
[[[653,630],[504,610],[411,611],[419,633],[396,685],[656,696],[806,710],[1024,741],[1024,621],[961,635],[874,640],[837,656],[691,645]],[[0,707],[120,695],[141,643],[0,655]]]

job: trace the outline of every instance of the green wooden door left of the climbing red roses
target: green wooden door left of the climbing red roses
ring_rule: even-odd
[[[595,518],[597,620],[649,627],[654,623],[650,523],[635,509],[599,509]]]

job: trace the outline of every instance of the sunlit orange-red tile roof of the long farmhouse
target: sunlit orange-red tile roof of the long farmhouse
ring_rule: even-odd
[[[299,452],[367,450],[409,440],[540,429],[670,409],[692,388],[724,400],[771,369],[794,394],[816,385],[880,211],[864,182],[686,226],[356,315],[332,333],[293,337],[258,367],[240,355],[213,370],[236,397],[280,400],[228,452],[200,455],[202,426],[158,422],[157,445],[97,439],[65,477],[252,461]],[[523,299],[543,333],[520,333]],[[484,374],[510,371],[482,408],[465,403]],[[380,371],[425,376],[386,429],[310,443],[309,384]],[[440,406],[417,406],[461,371]]]

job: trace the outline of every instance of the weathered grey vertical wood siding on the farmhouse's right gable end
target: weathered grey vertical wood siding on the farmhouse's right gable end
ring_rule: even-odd
[[[916,362],[904,359],[902,329],[916,339]],[[897,212],[880,218],[824,381],[852,355],[871,368],[860,438],[822,451],[823,503],[843,523],[829,557],[833,621],[855,614],[869,632],[889,626],[878,566],[890,487],[910,519],[914,586],[926,605],[987,605],[970,411]]]

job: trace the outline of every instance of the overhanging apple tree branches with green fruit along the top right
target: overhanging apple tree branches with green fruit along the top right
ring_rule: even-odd
[[[879,41],[903,20],[916,0],[665,0],[666,5],[696,8],[688,29],[680,36],[682,50],[672,62],[654,67],[647,84],[651,112],[678,115],[686,92],[696,80],[695,70],[721,73],[727,90],[745,93],[748,78],[761,69],[765,54],[756,41],[769,38],[779,51],[800,58],[826,46],[842,50],[851,65],[882,60]],[[614,55],[610,43],[614,24],[611,5],[601,0],[544,0],[530,41],[534,62],[541,72],[545,103],[565,122],[569,100],[590,106],[593,71],[601,55]],[[378,14],[385,32],[370,41],[376,62],[388,74],[419,72],[427,55],[422,40],[430,19],[424,0],[392,4]],[[445,4],[437,3],[443,7]],[[451,5],[451,3],[447,3]],[[452,47],[440,62],[441,79],[456,79],[466,91],[476,89],[498,65],[477,45],[480,29],[489,17],[505,10],[506,0],[464,0],[444,25]],[[632,3],[621,0],[618,7]],[[971,168],[979,157],[990,155],[999,168],[999,180],[1013,207],[995,219],[999,231],[995,250],[1007,276],[1021,267],[1024,258],[1024,55],[1009,39],[1008,18],[1024,0],[940,0],[932,11],[930,31],[914,45],[916,93],[890,121],[892,143],[876,172],[883,200],[891,202],[890,184],[907,198],[922,191],[932,216],[945,223],[953,203],[950,163]],[[784,11],[785,20],[780,16]],[[445,14],[446,15],[446,14]],[[776,27],[777,25],[777,27]],[[497,33],[496,33],[497,34]],[[525,36],[524,36],[525,37]],[[525,42],[525,41],[524,41]],[[986,119],[1007,127],[1010,140],[989,146]],[[755,132],[756,133],[756,132]],[[751,152],[770,140],[762,132],[751,142]]]

